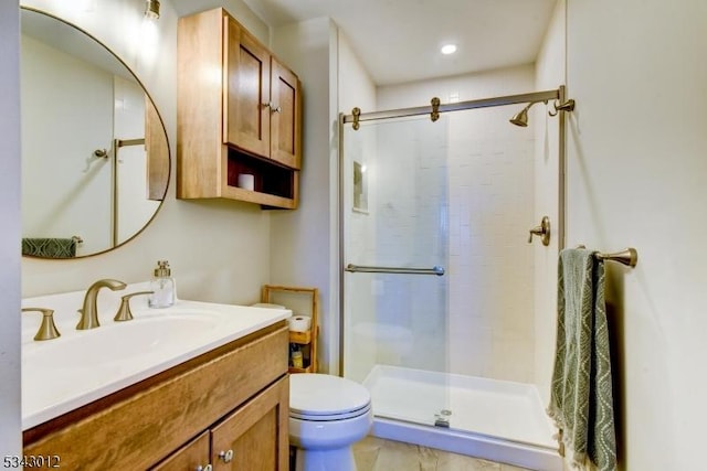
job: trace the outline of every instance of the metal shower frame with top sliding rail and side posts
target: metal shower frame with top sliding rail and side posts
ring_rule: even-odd
[[[574,109],[574,100],[567,98],[564,85],[560,85],[557,89],[532,92],[519,95],[507,95],[493,98],[481,98],[467,101],[457,101],[450,104],[441,104],[439,98],[432,98],[430,106],[419,106],[413,108],[400,108],[384,111],[361,113],[359,108],[354,108],[350,115],[339,114],[339,376],[344,374],[344,275],[346,271],[344,259],[344,127],[351,124],[354,129],[362,121],[374,121],[389,118],[404,118],[412,116],[430,115],[432,121],[436,121],[440,113],[461,111],[465,109],[489,108],[495,106],[548,103],[553,100],[555,113],[549,111],[550,116],[559,115],[558,127],[558,217],[556,224],[558,240],[558,249],[564,248],[564,168],[566,168],[566,122],[564,114]]]

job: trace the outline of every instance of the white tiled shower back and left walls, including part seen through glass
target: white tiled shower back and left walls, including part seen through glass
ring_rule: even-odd
[[[368,186],[367,212],[345,211],[347,263],[447,270],[347,277],[347,375],[361,379],[382,363],[532,379],[534,141],[508,124],[515,111],[346,135]]]

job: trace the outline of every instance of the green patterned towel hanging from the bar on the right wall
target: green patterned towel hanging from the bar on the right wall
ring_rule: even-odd
[[[558,266],[557,352],[548,414],[574,451],[599,471],[616,469],[616,439],[604,302],[604,263],[564,249]]]

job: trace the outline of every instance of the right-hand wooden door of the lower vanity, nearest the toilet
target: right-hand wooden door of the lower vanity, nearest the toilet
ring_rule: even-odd
[[[211,429],[218,470],[288,469],[289,378],[283,377]]]

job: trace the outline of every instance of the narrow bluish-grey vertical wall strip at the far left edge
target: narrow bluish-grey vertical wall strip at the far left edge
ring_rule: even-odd
[[[0,454],[22,451],[20,417],[20,31],[0,2]]]

